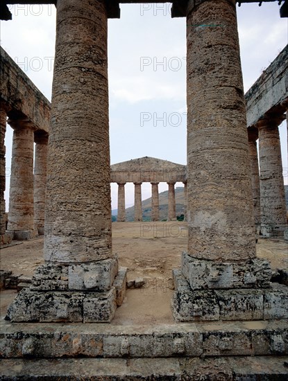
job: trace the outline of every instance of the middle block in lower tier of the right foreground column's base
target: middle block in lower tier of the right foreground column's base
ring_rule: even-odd
[[[262,290],[216,290],[223,320],[263,319]]]

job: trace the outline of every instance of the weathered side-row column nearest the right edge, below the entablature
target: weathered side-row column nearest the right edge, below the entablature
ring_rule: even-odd
[[[278,125],[282,118],[264,119],[259,131],[261,233],[264,237],[283,236],[287,228],[285,189]]]

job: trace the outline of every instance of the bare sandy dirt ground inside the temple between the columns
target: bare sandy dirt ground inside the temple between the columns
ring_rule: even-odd
[[[172,294],[171,270],[180,267],[180,257],[187,249],[185,222],[113,222],[113,252],[119,257],[119,266],[128,267],[128,280],[142,276],[143,289],[128,290],[124,304],[117,309],[113,324],[173,323],[170,300]],[[288,244],[284,240],[260,239],[257,256],[271,261],[271,267],[288,267]],[[43,238],[15,242],[1,249],[0,268],[14,274],[32,276],[42,259]],[[15,292],[1,293],[6,308]]]

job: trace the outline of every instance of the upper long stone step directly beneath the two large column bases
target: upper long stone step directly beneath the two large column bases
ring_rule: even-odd
[[[3,321],[0,343],[0,357],[6,359],[278,356],[288,355],[288,322],[210,321],[150,327]]]

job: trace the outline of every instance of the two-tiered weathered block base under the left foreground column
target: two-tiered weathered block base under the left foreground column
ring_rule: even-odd
[[[81,265],[44,264],[8,308],[6,320],[109,323],[126,292],[116,258]]]

